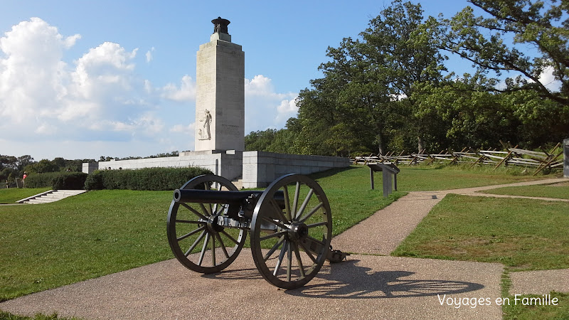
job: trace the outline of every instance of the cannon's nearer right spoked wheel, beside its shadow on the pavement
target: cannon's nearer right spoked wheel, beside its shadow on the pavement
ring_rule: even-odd
[[[282,191],[284,206],[275,200],[277,191]],[[282,176],[259,198],[250,233],[253,260],[262,277],[283,289],[302,287],[319,272],[328,254],[328,199],[311,178]]]

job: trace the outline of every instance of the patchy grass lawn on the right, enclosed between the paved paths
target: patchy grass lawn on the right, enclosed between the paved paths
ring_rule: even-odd
[[[568,268],[568,213],[564,202],[448,195],[393,255]]]

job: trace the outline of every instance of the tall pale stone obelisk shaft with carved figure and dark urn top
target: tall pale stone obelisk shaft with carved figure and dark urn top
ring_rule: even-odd
[[[245,149],[245,53],[216,18],[196,65],[196,151]]]

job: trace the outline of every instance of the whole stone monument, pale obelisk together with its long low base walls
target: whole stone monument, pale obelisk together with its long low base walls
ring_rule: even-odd
[[[210,42],[200,46],[196,66],[196,151],[165,158],[99,161],[99,168],[142,169],[201,166],[245,188],[268,186],[283,174],[312,174],[350,165],[334,156],[275,154],[245,150],[245,53],[231,42],[229,20],[216,18]]]

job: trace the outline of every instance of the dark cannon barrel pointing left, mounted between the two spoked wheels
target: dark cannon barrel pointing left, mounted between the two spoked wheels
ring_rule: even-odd
[[[196,190],[196,189],[176,189],[174,190],[174,201],[183,203],[224,203],[240,205],[243,200],[252,195],[259,195],[263,191],[217,191],[217,190]],[[275,200],[278,204],[285,206],[285,193],[277,191]]]

